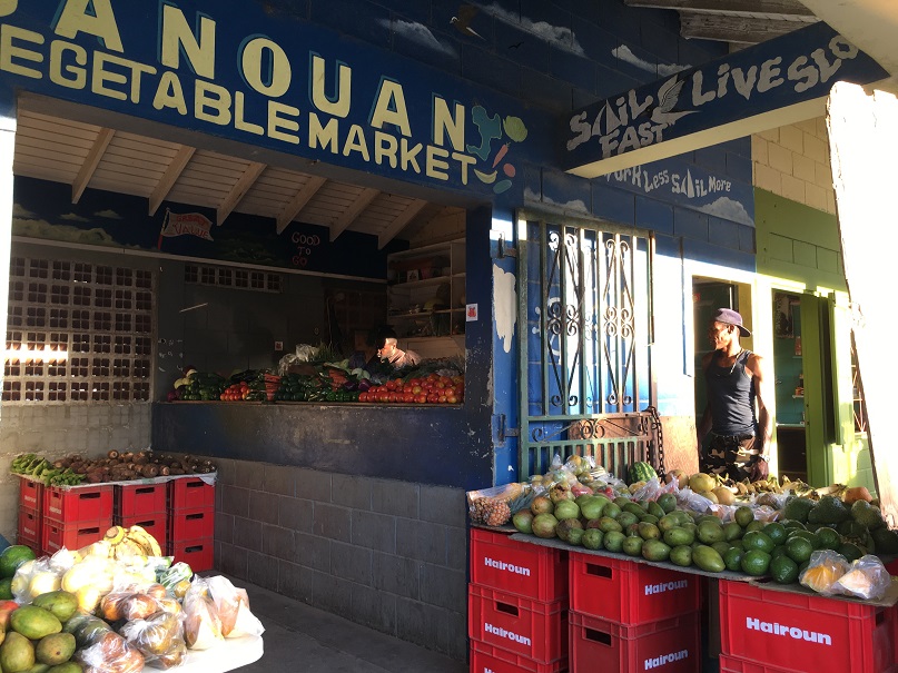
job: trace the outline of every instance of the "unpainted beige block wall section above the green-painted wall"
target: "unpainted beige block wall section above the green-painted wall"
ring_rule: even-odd
[[[751,158],[756,187],[823,212],[836,212],[823,117],[752,136]]]

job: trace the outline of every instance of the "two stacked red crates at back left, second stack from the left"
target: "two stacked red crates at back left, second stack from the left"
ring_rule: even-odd
[[[46,486],[41,553],[80,550],[97,542],[112,525],[112,485]]]

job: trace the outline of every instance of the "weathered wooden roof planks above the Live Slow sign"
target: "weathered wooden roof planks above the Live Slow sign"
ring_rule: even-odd
[[[680,13],[687,39],[728,42],[736,51],[819,21],[799,0],[624,0],[629,7]]]

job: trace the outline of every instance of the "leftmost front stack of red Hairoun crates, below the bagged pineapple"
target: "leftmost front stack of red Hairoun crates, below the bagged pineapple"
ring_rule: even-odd
[[[471,528],[472,673],[568,670],[568,553]]]

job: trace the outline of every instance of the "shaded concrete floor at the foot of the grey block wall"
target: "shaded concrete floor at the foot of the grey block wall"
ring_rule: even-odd
[[[467,664],[231,577],[265,626],[265,654],[239,673],[467,673]]]

